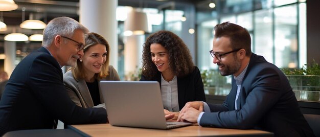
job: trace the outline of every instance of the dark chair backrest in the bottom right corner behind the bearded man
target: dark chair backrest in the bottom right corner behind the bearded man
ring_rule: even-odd
[[[320,137],[320,115],[304,114],[315,136]]]

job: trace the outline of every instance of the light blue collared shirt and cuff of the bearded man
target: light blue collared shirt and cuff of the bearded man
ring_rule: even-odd
[[[244,75],[245,75],[245,73],[246,73],[246,71],[247,71],[248,65],[249,65],[249,63],[247,64],[247,66],[245,67],[245,69],[239,74],[238,77],[234,76],[234,79],[235,79],[236,84],[237,84],[237,95],[236,95],[236,98],[235,98],[235,107],[236,107],[236,110],[238,109],[238,108],[237,108],[237,100],[238,100],[238,97],[239,97],[239,94],[240,94],[240,89],[241,89],[242,80],[243,80]],[[205,102],[203,102],[203,111],[204,111],[204,112],[211,112],[208,104],[205,103]],[[202,115],[203,115],[204,112],[201,112],[201,113],[199,114],[199,116],[198,116],[198,119],[197,119],[198,125],[200,125],[200,119],[201,119],[201,117],[202,117]]]

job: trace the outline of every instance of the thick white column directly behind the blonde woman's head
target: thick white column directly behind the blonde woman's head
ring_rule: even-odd
[[[118,70],[117,0],[80,0],[80,23],[110,44],[110,64]]]

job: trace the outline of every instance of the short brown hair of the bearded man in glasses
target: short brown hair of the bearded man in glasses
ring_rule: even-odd
[[[222,24],[216,25],[214,31],[214,36],[216,38],[230,38],[231,48],[233,50],[244,49],[246,51],[246,56],[250,56],[252,54],[251,37],[247,29],[230,22],[223,22]]]

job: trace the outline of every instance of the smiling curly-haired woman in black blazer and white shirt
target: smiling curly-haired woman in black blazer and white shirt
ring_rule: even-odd
[[[200,71],[187,45],[174,33],[159,31],[150,35],[144,43],[142,60],[141,81],[160,83],[167,116],[174,113],[176,119],[187,102],[205,101]]]

